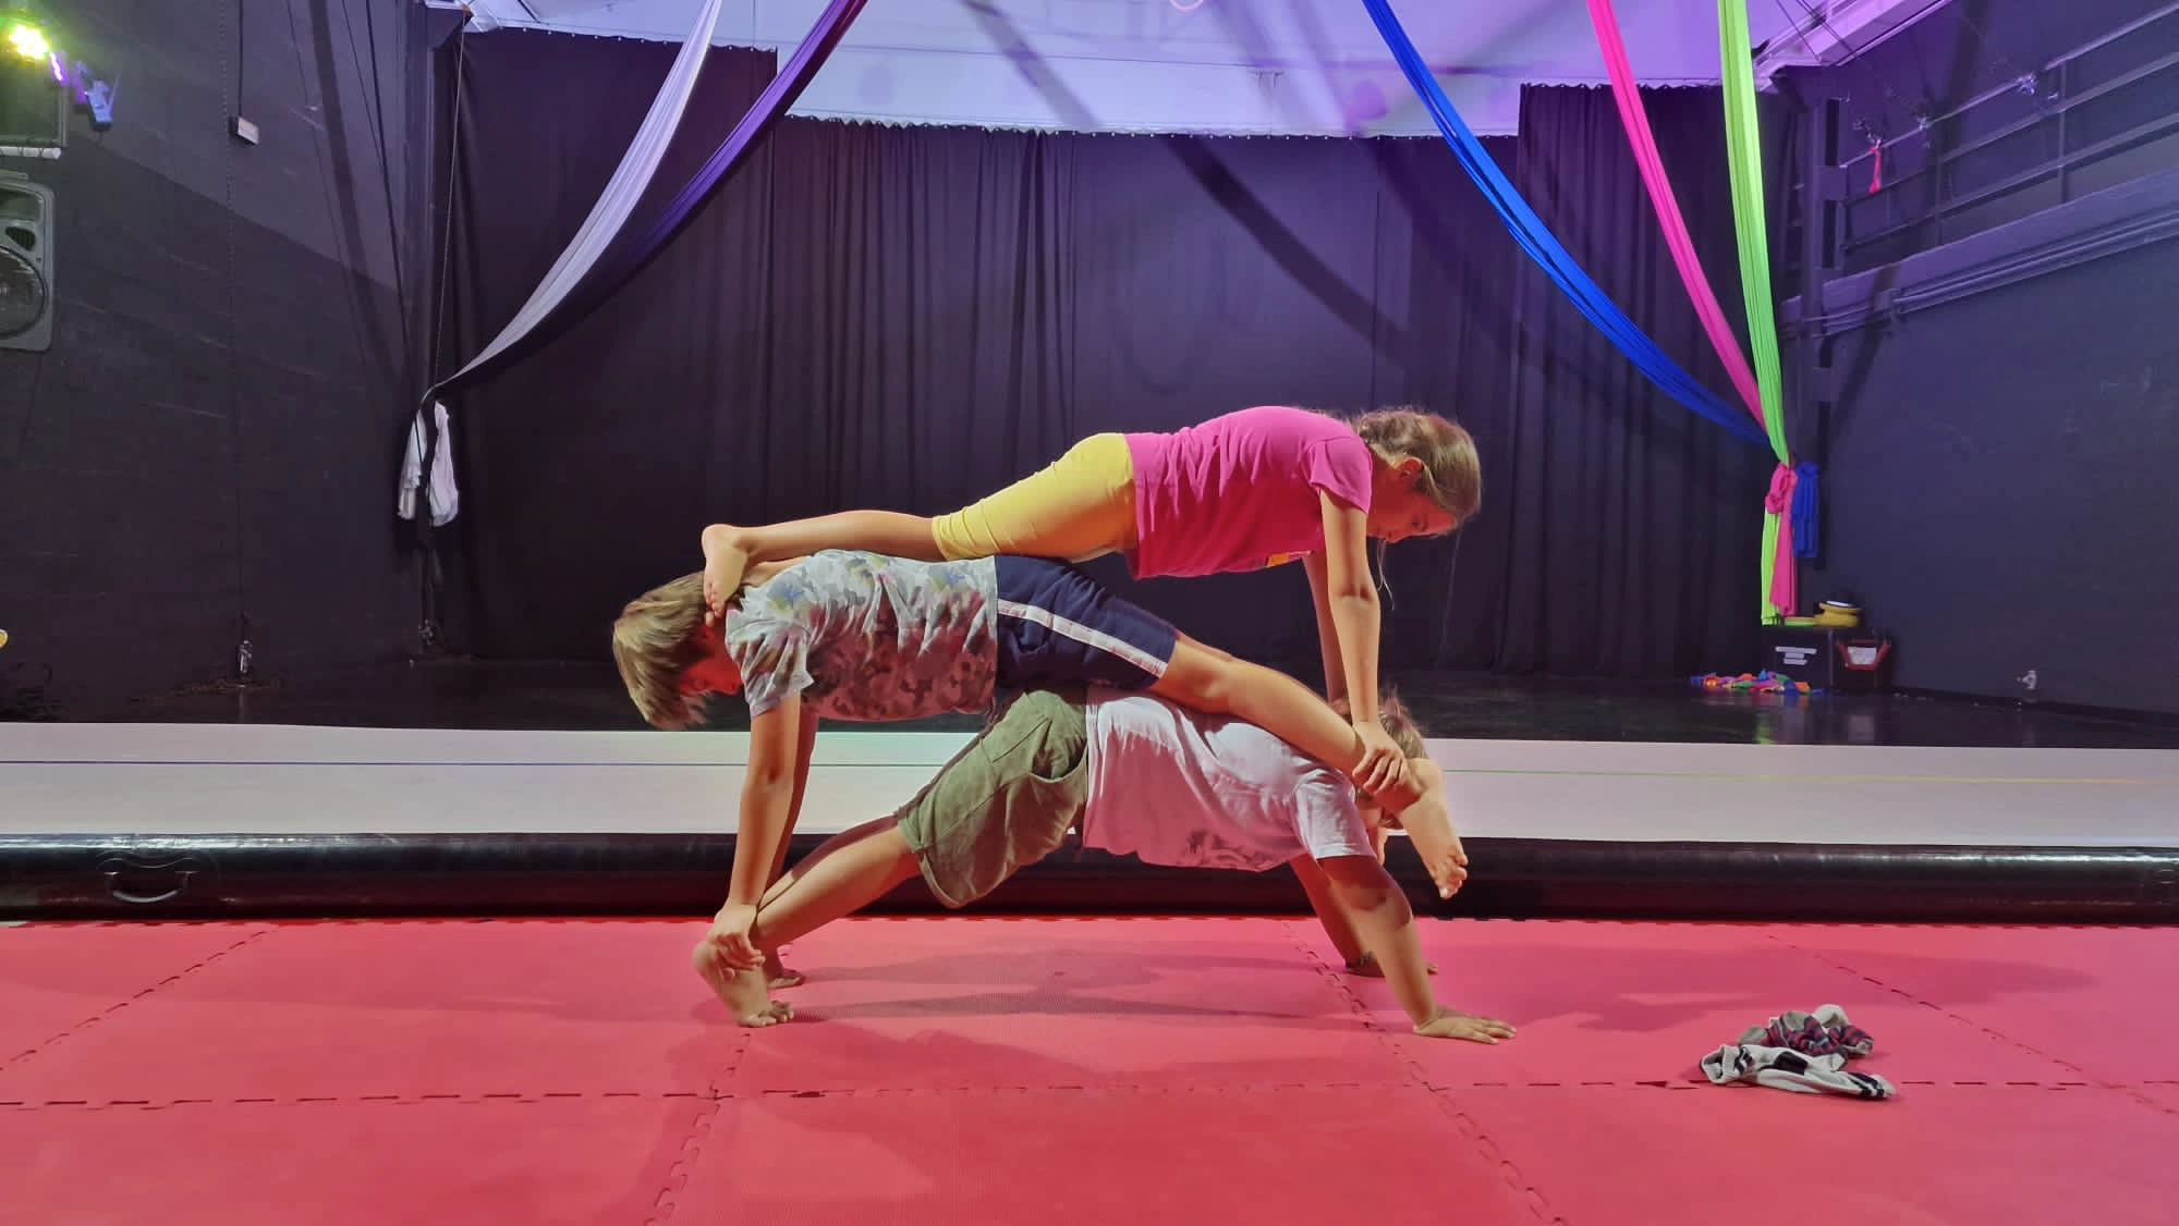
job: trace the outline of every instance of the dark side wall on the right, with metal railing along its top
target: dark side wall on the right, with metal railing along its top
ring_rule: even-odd
[[[1841,98],[1846,122],[1907,137],[1885,157],[1898,200],[1872,218],[1928,218],[1935,152],[1983,135],[1937,124],[1946,113],[2157,9],[2151,0],[1955,2],[1843,68],[1795,74],[1806,100]],[[2179,17],[2111,44],[2087,63],[2153,63],[2179,46]],[[2081,76],[2074,76],[2081,81]],[[2107,137],[2170,111],[2172,70],[2090,100],[2068,115]],[[1992,109],[2029,105],[2003,96]],[[2040,102],[2035,102],[2040,105]],[[2011,115],[1998,115],[2009,120]],[[2024,133],[1955,163],[1952,187],[1976,189],[2053,152]],[[1846,148],[1859,148],[1852,128]],[[2179,165],[2170,137],[2070,176],[2072,198]],[[1867,187],[1867,163],[1852,192]],[[1911,179],[1909,179],[1911,176]],[[2055,179],[1970,211],[1900,229],[1850,268],[1928,250],[2057,205]],[[1894,218],[1880,216],[1894,209]],[[1900,686],[2179,712],[2179,331],[2172,329],[2179,242],[2079,263],[1900,316],[1833,340],[1839,399],[1830,414],[1824,568],[1815,594],[1861,599],[1898,642]],[[1806,422],[1804,422],[1806,425]]]

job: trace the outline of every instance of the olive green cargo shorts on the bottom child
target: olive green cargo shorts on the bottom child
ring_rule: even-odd
[[[1087,797],[1087,695],[1028,690],[896,817],[930,893],[959,908],[1057,851]]]

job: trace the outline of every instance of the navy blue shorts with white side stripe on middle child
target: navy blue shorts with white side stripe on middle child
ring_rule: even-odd
[[[1092,684],[1148,690],[1181,634],[1066,562],[1000,553],[998,684],[1009,690]]]

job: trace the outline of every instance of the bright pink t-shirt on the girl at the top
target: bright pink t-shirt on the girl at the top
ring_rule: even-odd
[[[1127,436],[1137,579],[1259,571],[1325,547],[1316,490],[1368,512],[1371,451],[1351,425],[1255,407]]]

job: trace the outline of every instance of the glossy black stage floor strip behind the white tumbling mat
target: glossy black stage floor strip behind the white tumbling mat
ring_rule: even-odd
[[[1390,675],[1429,736],[1512,740],[1678,740],[1739,745],[1983,745],[2179,749],[2172,716],[2074,712],[1926,695],[1806,699],[1702,692],[1684,682],[1565,682]],[[24,699],[17,695],[17,708]],[[739,703],[713,727],[745,727]],[[17,710],[17,716],[22,710]],[[309,682],[46,708],[48,719],[146,723],[307,723],[336,727],[636,730],[608,664],[438,660]],[[885,725],[972,730],[974,716]]]

